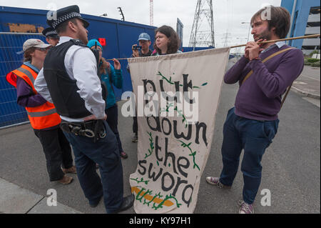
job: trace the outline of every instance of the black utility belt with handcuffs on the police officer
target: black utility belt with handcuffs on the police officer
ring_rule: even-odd
[[[105,124],[102,119],[95,119],[88,122],[66,122],[61,119],[60,124],[63,132],[77,136],[93,138],[93,142],[106,137]]]

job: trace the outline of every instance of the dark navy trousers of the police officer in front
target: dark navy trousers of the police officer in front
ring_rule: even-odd
[[[73,147],[77,176],[89,202],[103,196],[107,213],[117,211],[123,203],[123,166],[115,134],[106,122],[106,137],[94,143],[93,138],[64,132]],[[99,165],[101,178],[96,172]]]

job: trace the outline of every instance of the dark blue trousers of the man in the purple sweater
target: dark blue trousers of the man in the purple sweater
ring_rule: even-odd
[[[220,182],[231,186],[238,172],[240,153],[244,149],[241,171],[243,172],[243,200],[253,204],[260,187],[261,160],[265,149],[277,133],[279,120],[260,122],[238,117],[234,109],[228,111],[223,127],[222,158],[223,170]]]

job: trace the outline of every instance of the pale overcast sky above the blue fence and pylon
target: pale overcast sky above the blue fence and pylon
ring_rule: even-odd
[[[106,13],[108,18],[119,20],[121,15],[117,8],[121,6],[126,21],[150,24],[149,2],[149,0],[0,0],[0,6],[32,9],[51,9],[49,7],[56,6],[59,9],[77,4],[81,14],[100,16]],[[177,18],[180,19],[184,25],[183,46],[188,46],[197,0],[153,0],[153,2],[154,26],[165,24],[176,29]],[[249,24],[241,22],[249,22],[253,14],[263,6],[280,6],[280,4],[281,0],[213,0],[215,46],[224,46],[226,33],[228,33],[228,46],[245,44],[248,39]],[[206,21],[202,24],[207,25]]]

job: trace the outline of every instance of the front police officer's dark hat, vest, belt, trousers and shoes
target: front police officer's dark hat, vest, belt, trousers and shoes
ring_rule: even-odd
[[[73,18],[83,21],[85,27],[89,25],[79,14],[78,6],[58,9],[56,16],[56,20],[47,20],[53,29]],[[76,80],[68,76],[64,65],[66,53],[73,45],[85,46],[80,40],[71,39],[49,50],[44,61],[44,78],[57,113],[79,119],[90,116],[91,112],[86,109],[85,102],[77,92]],[[73,147],[78,179],[91,207],[96,207],[101,197],[107,213],[131,207],[134,197],[130,195],[123,198],[123,167],[116,137],[106,121],[62,121],[61,129]],[[96,163],[99,164],[101,178],[96,173]]]

